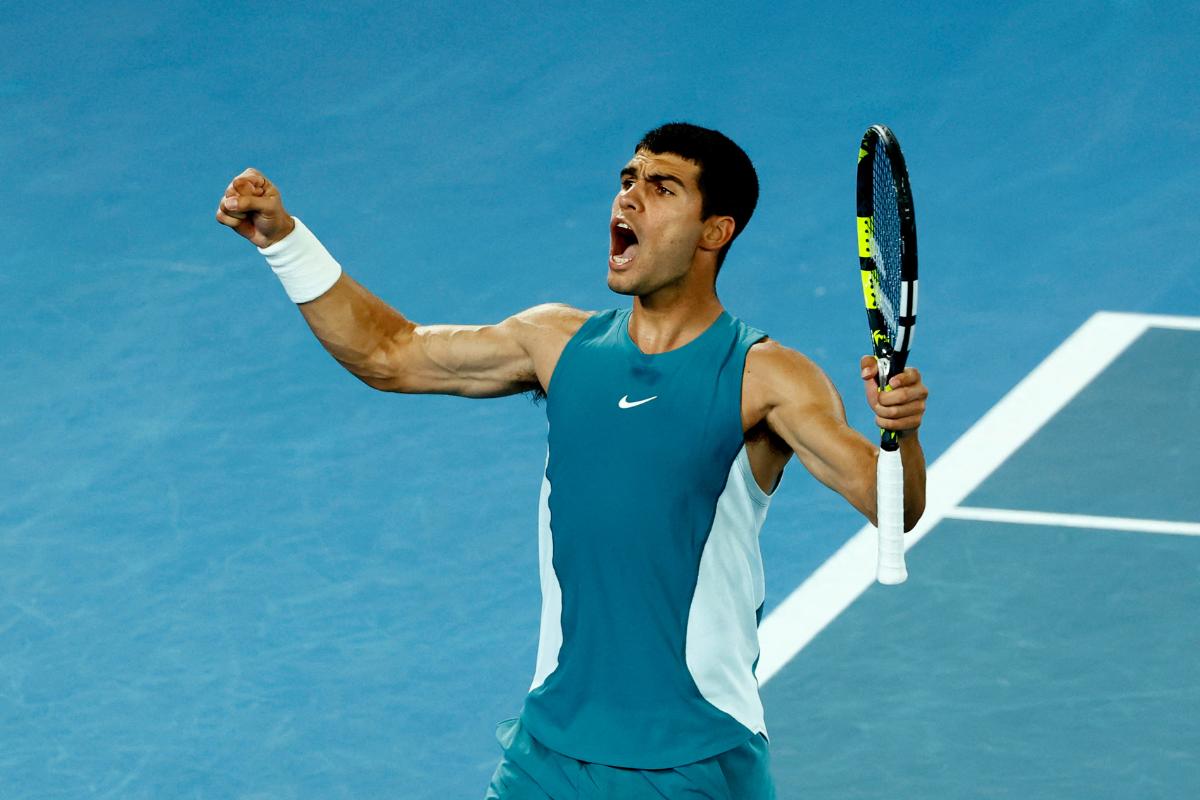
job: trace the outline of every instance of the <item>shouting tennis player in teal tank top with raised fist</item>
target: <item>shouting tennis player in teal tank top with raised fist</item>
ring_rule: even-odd
[[[758,198],[716,131],[670,124],[619,172],[608,288],[631,307],[535,306],[496,325],[419,325],[344,273],[247,169],[217,221],[259,247],[317,338],[367,385],[546,398],[538,663],[487,798],[774,798],[755,664],[758,531],[794,453],[875,521],[876,445],[800,353],[731,315],[715,281]],[[905,523],[924,510],[916,369],[876,387],[901,432]]]

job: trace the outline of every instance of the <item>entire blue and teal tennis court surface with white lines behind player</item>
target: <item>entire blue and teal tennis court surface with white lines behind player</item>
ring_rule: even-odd
[[[868,125],[913,178],[929,510],[876,587],[862,518],[788,467],[781,800],[1196,793],[1198,8],[2,17],[0,798],[482,795],[534,670],[545,407],[366,389],[214,211],[262,169],[424,324],[624,307],[610,203],[672,119],[762,181],[722,303],[864,432]]]

